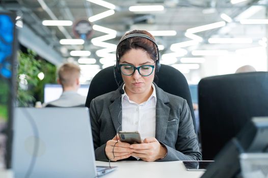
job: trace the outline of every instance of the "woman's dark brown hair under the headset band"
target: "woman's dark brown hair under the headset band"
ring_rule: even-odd
[[[126,33],[121,39],[123,39],[125,36],[130,34],[144,34],[149,37],[151,37],[153,40],[154,37],[145,30],[138,30],[135,29],[131,32]],[[157,49],[153,42],[150,40],[143,38],[143,37],[130,37],[122,41],[117,46],[117,52],[118,52],[118,60],[120,61],[120,58],[128,52],[130,49],[143,49],[147,52],[147,54],[151,57],[151,59],[156,62],[157,60]]]

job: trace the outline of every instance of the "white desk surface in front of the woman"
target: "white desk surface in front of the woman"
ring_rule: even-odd
[[[97,166],[109,166],[108,162],[96,161]],[[198,178],[204,171],[187,171],[182,161],[169,162],[144,162],[144,161],[119,161],[111,162],[111,166],[118,168],[103,178],[109,177],[179,177],[179,178]]]

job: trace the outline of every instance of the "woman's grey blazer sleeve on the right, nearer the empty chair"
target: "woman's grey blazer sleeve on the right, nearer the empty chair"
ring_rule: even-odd
[[[175,144],[176,149],[162,143],[166,146],[168,153],[165,158],[156,161],[202,160],[191,112],[186,100],[183,101],[179,118],[178,138]]]

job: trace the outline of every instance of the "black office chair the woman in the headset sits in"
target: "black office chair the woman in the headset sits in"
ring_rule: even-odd
[[[122,83],[121,75],[116,72],[118,82]],[[158,80],[158,81],[156,81]],[[191,94],[189,90],[189,85],[186,81],[186,78],[182,73],[171,66],[161,65],[161,68],[155,78],[155,83],[157,86],[162,88],[165,92],[168,92],[173,95],[180,96],[187,100],[187,103],[190,107],[193,123],[195,127],[195,132],[197,134],[195,115],[193,110],[193,104],[191,99]],[[95,97],[109,93],[117,90],[118,86],[114,78],[114,67],[108,67],[102,69],[97,73],[92,79],[89,87],[89,92],[87,96],[86,106],[90,107],[90,102]]]

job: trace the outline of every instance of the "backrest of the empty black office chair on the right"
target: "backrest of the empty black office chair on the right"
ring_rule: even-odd
[[[207,77],[198,84],[203,160],[212,160],[253,116],[268,116],[268,72]]]

